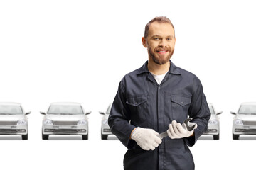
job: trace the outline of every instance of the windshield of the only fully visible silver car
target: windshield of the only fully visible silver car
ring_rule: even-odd
[[[51,115],[82,115],[81,106],[71,106],[71,105],[53,105],[50,106],[48,114]]]

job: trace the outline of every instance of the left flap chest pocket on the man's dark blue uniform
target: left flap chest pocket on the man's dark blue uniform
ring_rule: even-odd
[[[131,123],[142,126],[148,114],[147,95],[137,95],[127,98],[127,106],[130,110]]]

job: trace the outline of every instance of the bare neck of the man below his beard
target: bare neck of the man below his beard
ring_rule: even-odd
[[[148,69],[149,72],[156,74],[156,75],[161,75],[166,72],[168,72],[170,68],[170,62],[166,62],[165,64],[156,64],[154,61],[149,60],[148,62]]]

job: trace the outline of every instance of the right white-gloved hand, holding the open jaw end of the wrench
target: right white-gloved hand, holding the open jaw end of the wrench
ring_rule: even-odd
[[[194,123],[196,124],[196,123]],[[179,139],[183,137],[190,137],[193,135],[194,130],[197,128],[197,124],[193,130],[188,131],[185,123],[177,123],[176,120],[173,120],[171,124],[169,124],[169,130],[167,130],[167,134],[171,139]]]

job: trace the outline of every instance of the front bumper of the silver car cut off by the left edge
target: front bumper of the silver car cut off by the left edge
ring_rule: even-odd
[[[0,135],[26,135],[28,125],[0,125]]]

